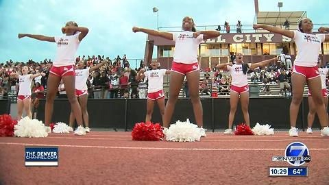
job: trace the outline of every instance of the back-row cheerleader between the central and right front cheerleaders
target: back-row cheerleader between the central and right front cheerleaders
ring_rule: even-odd
[[[230,93],[230,115],[228,116],[228,129],[225,130],[224,134],[232,134],[232,125],[239,100],[241,101],[241,110],[243,112],[245,124],[250,126],[248,111],[249,87],[247,80],[247,71],[249,69],[254,70],[258,67],[267,66],[271,62],[274,62],[276,60],[277,58],[272,58],[270,60],[264,60],[262,62],[246,64],[245,62],[243,62],[242,53],[236,53],[236,64],[226,63],[217,65],[218,69],[230,71],[232,77]]]

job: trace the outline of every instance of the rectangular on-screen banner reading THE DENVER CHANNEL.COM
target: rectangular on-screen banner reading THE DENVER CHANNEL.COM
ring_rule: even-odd
[[[25,147],[25,167],[58,167],[58,147]]]

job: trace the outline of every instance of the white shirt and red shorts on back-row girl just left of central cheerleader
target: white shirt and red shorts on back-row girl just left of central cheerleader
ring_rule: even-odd
[[[149,81],[147,98],[156,100],[164,98],[163,94],[163,76],[166,75],[166,69],[154,69],[151,71],[145,71],[145,77]]]

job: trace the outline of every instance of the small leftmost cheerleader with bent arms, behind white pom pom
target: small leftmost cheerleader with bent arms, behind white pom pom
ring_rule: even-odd
[[[21,120],[23,108],[29,119],[32,119],[31,113],[31,84],[35,77],[40,75],[45,76],[45,73],[36,73],[35,75],[28,74],[29,68],[23,66],[22,75],[18,73],[11,73],[10,76],[19,79],[19,94],[17,96],[17,120]]]

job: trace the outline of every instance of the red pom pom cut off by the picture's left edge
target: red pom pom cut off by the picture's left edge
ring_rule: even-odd
[[[0,115],[0,136],[14,136],[14,126],[17,124],[16,120],[12,120],[12,116],[8,114]]]

